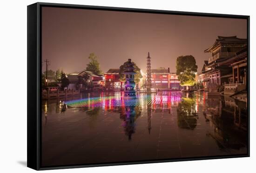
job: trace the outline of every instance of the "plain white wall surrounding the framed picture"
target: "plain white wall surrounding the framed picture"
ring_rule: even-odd
[[[253,0],[42,0],[97,6],[117,6],[203,13],[251,15],[251,67],[256,65],[256,10]],[[0,6],[0,172],[33,172],[27,160],[27,5],[35,0],[2,0]],[[251,70],[251,86],[256,86],[256,70]],[[16,84],[13,84],[13,81]],[[6,92],[6,86],[8,90]],[[251,90],[251,100],[256,98]],[[183,161],[116,167],[54,170],[58,173],[246,173],[255,171],[256,102],[251,102],[251,157],[240,159]],[[254,136],[254,137],[253,137]]]

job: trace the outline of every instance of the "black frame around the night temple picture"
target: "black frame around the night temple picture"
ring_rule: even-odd
[[[213,13],[194,13],[194,12],[177,12],[165,10],[149,10],[135,8],[120,8],[107,6],[85,6],[72,4],[55,4],[55,3],[34,3],[27,6],[27,167],[35,170],[48,169],[63,169],[63,168],[79,168],[79,167],[100,167],[100,166],[115,166],[127,164],[144,164],[172,161],[187,161],[187,160],[208,160],[208,159],[224,159],[224,158],[239,158],[249,157],[249,116],[248,116],[248,154],[241,155],[225,155],[225,156],[207,156],[193,157],[184,159],[165,159],[165,160],[145,160],[145,161],[129,161],[115,162],[102,164],[83,164],[83,165],[67,165],[56,167],[41,167],[41,8],[43,6],[63,7],[63,8],[79,8],[91,10],[108,10],[108,11],[123,11],[123,12],[138,12],[138,13],[160,13],[160,14],[176,14],[189,16],[204,16],[204,17],[220,17],[233,19],[247,19],[247,40],[248,40],[248,115],[249,115],[249,16],[245,15],[230,15],[230,14],[213,14]]]

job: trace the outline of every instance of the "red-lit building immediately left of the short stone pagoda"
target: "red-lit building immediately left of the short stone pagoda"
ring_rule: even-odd
[[[106,88],[114,90],[124,89],[124,84],[120,81],[119,69],[109,69],[104,73],[104,76]]]

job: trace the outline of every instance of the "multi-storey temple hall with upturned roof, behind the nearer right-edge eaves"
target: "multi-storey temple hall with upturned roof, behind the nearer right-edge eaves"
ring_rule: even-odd
[[[230,64],[230,60],[236,56],[236,52],[243,50],[246,45],[247,39],[237,38],[236,36],[218,36],[214,45],[204,51],[205,53],[211,53],[208,62],[204,62],[202,69],[201,77],[204,86],[207,86],[209,83],[222,85],[224,83],[234,82],[234,72],[232,74],[232,64]],[[236,65],[234,64],[234,66]]]

